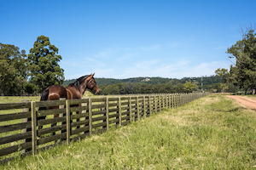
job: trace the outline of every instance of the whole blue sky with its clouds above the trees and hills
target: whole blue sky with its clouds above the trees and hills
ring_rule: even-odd
[[[232,62],[227,48],[256,21],[256,1],[0,0],[0,42],[59,48],[65,79],[201,77]]]

